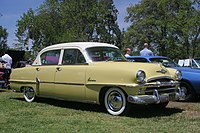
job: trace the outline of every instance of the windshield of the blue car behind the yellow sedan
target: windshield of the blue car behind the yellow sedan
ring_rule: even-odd
[[[179,67],[173,60],[168,58],[151,58],[149,59],[152,63],[162,63],[165,67]]]

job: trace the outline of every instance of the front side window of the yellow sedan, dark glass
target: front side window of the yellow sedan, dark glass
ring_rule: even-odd
[[[85,63],[83,54],[78,49],[65,49],[63,54],[63,65],[83,64]]]

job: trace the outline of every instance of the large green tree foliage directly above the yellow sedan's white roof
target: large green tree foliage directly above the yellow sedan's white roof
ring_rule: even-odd
[[[46,0],[18,20],[18,47],[40,50],[72,41],[99,41],[120,45],[118,11],[112,0]]]

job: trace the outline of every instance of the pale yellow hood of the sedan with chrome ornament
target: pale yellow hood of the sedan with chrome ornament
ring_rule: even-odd
[[[146,79],[158,78],[158,77],[175,77],[174,71],[169,71],[161,64],[152,64],[152,63],[138,63],[138,62],[93,62],[91,66],[98,68],[107,68],[108,71],[117,71],[120,73],[134,74],[139,70],[142,70],[146,73]]]

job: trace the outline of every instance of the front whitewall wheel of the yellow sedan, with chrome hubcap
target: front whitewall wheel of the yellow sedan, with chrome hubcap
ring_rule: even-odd
[[[104,105],[111,115],[125,115],[130,109],[130,103],[119,88],[110,88],[104,95]]]

